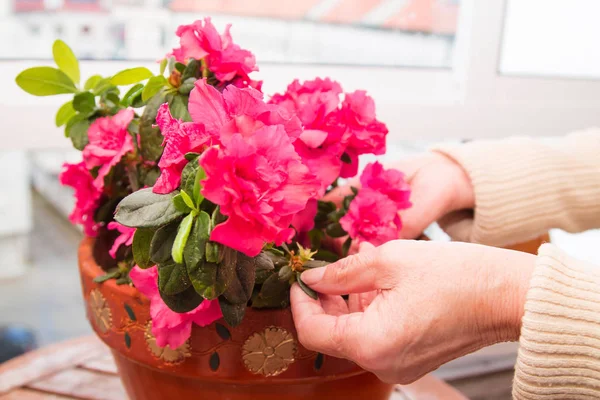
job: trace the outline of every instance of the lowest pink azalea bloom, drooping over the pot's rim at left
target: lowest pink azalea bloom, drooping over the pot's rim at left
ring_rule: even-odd
[[[172,311],[158,293],[158,269],[156,266],[141,269],[137,265],[129,272],[135,287],[150,300],[152,334],[160,347],[171,349],[183,345],[192,334],[192,324],[207,326],[222,317],[218,300],[204,300],[187,313]]]

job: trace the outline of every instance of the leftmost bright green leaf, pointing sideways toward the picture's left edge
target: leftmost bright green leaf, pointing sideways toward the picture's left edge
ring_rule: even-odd
[[[52,67],[33,67],[21,72],[17,85],[34,96],[77,93],[75,84],[64,72]]]

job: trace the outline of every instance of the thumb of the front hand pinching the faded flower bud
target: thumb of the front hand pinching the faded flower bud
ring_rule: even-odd
[[[342,258],[323,268],[302,274],[302,281],[319,293],[352,294],[391,289],[395,282],[387,263],[378,262],[377,249]]]

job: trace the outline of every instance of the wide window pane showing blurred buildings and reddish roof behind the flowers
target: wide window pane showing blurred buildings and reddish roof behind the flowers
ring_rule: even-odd
[[[45,59],[56,31],[79,56],[156,60],[180,24],[213,16],[259,63],[450,68],[458,0],[2,0],[0,58]],[[82,35],[81,26],[86,28]],[[48,26],[47,30],[46,27]],[[103,35],[122,26],[123,34]],[[165,29],[166,27],[166,29]]]

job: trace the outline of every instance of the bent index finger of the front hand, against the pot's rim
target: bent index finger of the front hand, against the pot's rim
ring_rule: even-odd
[[[360,343],[360,313],[328,315],[319,300],[308,297],[298,285],[291,289],[292,314],[298,340],[309,350],[351,358]]]

